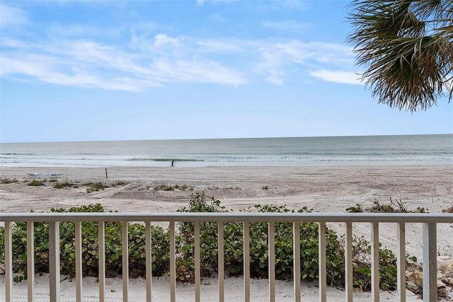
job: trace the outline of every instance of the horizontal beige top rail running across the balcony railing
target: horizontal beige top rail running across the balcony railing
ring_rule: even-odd
[[[453,214],[417,213],[2,213],[0,221],[256,221],[453,223]]]

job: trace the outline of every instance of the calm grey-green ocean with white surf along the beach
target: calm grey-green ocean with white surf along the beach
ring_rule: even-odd
[[[0,144],[1,167],[440,165],[453,134]]]

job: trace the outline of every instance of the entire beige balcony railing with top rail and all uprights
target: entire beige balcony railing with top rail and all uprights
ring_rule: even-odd
[[[151,222],[165,221],[170,231],[170,298],[176,301],[176,222],[194,222],[195,226],[195,301],[200,301],[200,222],[218,223],[219,301],[224,301],[224,222],[243,223],[243,296],[250,301],[250,222],[267,222],[269,261],[269,301],[275,301],[275,222],[293,223],[294,301],[300,301],[300,223],[319,223],[319,301],[326,301],[326,223],[345,223],[345,301],[352,301],[352,223],[370,223],[372,237],[372,301],[379,301],[379,223],[397,223],[397,286],[399,301],[406,301],[406,223],[423,223],[423,301],[437,301],[437,223],[453,223],[453,214],[314,214],[314,213],[8,213],[1,214],[5,226],[5,294],[13,301],[12,223],[27,223],[28,301],[33,301],[35,283],[33,223],[49,222],[50,301],[59,301],[59,222],[76,226],[76,301],[82,301],[81,222],[98,221],[99,301],[105,301],[105,221],[122,221],[122,299],[128,301],[129,263],[127,226],[143,221],[146,228],[146,288],[151,301]]]

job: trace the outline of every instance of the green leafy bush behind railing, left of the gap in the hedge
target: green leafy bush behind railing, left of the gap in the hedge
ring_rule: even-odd
[[[52,212],[103,212],[101,204],[74,207],[71,209],[51,209]],[[129,228],[129,257],[131,277],[145,276],[145,228],[139,223],[130,224]],[[23,222],[13,224],[13,271],[18,273],[16,281],[26,278],[26,236],[27,225]],[[62,222],[60,231],[60,265],[61,273],[74,276],[75,274],[75,225]],[[115,276],[121,271],[122,224],[120,222],[105,222],[105,270],[108,277]],[[34,223],[35,234],[35,271],[49,271],[49,225],[45,222]],[[82,223],[82,274],[84,277],[98,276],[98,223]],[[168,231],[160,226],[151,226],[153,274],[159,276],[168,271]],[[0,228],[0,262],[4,263],[4,227]]]

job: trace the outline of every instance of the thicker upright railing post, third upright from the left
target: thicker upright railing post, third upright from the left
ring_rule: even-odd
[[[50,302],[59,302],[59,222],[49,223]]]

